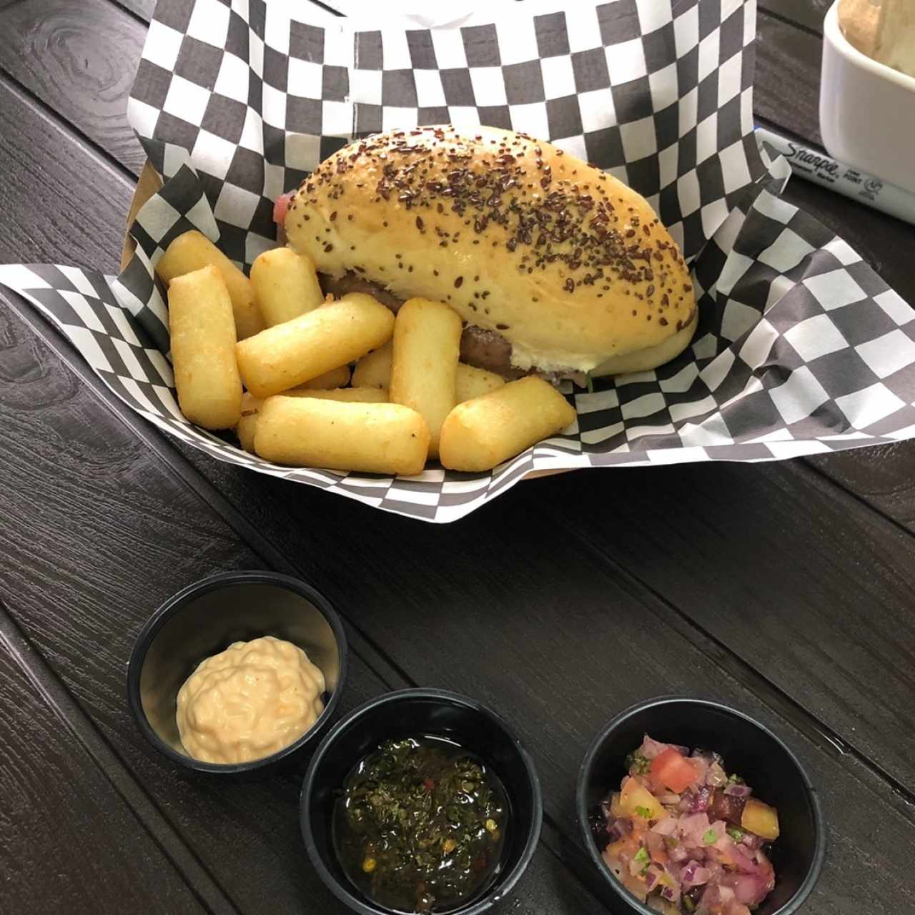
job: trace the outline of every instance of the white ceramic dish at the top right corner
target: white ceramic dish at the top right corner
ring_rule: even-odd
[[[838,0],[823,23],[820,130],[833,158],[915,192],[915,79],[848,43]]]

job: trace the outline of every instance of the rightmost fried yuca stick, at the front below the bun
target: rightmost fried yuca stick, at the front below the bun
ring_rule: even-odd
[[[490,470],[576,417],[565,397],[541,378],[522,378],[458,404],[442,425],[439,457],[451,470]]]

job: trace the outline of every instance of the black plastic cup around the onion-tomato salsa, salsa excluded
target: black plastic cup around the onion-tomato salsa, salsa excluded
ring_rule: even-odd
[[[624,759],[649,734],[662,743],[720,753],[760,801],[779,812],[780,836],[771,845],[775,889],[754,915],[791,915],[810,895],[826,849],[817,793],[801,763],[768,727],[717,702],[662,696],[633,705],[609,722],[588,749],[578,772],[576,813],[585,846],[616,899],[614,910],[653,915],[610,873],[592,834],[589,815],[626,774]],[[611,902],[612,905],[612,902]]]

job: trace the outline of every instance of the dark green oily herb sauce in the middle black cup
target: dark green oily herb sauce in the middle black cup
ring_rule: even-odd
[[[447,912],[498,871],[508,826],[499,780],[432,737],[388,741],[350,772],[334,809],[334,846],[350,880],[400,912]]]

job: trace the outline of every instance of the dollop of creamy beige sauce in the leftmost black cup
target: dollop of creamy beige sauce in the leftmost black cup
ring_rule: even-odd
[[[236,641],[178,691],[178,733],[201,762],[249,762],[288,747],[324,709],[324,674],[292,642]]]

